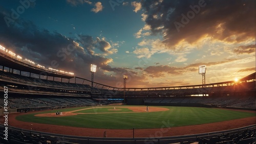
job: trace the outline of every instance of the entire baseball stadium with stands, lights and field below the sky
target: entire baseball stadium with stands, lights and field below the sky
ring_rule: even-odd
[[[0,54],[1,143],[255,143],[255,73],[115,88]]]

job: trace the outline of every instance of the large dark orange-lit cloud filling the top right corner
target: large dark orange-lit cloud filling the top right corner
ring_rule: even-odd
[[[199,2],[141,1],[142,19],[150,25],[152,35],[163,37],[168,49],[176,49],[180,41],[193,45],[205,36],[230,43],[255,37],[254,1],[202,1],[202,7]],[[184,18],[188,14],[190,18]]]

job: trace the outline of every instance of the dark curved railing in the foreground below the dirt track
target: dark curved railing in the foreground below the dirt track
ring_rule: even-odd
[[[223,135],[226,133],[234,134],[239,133],[244,130],[255,128],[256,125],[250,125],[242,128],[236,128],[231,130],[224,130],[224,131],[216,131],[216,132],[209,132],[209,133],[200,133],[200,134],[192,134],[192,135],[182,135],[182,136],[169,136],[169,137],[141,137],[141,138],[108,138],[103,137],[106,133],[108,135],[108,130],[102,133],[102,137],[86,137],[86,136],[72,136],[72,135],[62,135],[62,134],[54,134],[48,132],[40,132],[40,131],[33,131],[33,130],[25,130],[20,129],[17,127],[8,127],[8,131],[16,131],[16,132],[23,132],[26,135],[40,135],[47,137],[47,140],[50,140],[52,143],[58,141],[63,143],[136,143],[136,144],[145,144],[145,143],[158,143],[158,144],[165,144],[165,143],[186,143],[186,142],[194,142],[197,140],[197,137],[201,138],[211,138],[218,135]],[[0,125],[1,129],[4,129],[4,125]],[[64,129],[65,130],[65,129]],[[131,130],[132,131],[132,130]],[[136,129],[135,129],[136,133]]]

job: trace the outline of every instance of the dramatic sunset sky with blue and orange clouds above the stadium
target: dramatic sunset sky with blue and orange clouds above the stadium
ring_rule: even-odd
[[[256,1],[0,1],[0,45],[112,87],[173,87],[255,72]]]

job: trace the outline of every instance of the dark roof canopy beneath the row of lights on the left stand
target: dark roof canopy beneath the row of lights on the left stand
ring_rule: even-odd
[[[62,77],[62,78],[67,78],[67,79],[75,78],[75,76],[72,76],[72,75],[66,75],[66,74],[38,68],[38,67],[35,67],[32,65],[28,65],[28,64],[20,62],[16,59],[13,59],[12,57],[10,57],[8,55],[3,54],[2,52],[0,52],[0,65],[4,66],[4,67],[11,68],[11,69],[16,69],[16,70],[24,71],[24,72],[30,72],[30,73],[34,73],[34,74],[47,73],[48,76],[53,76],[53,77]]]

